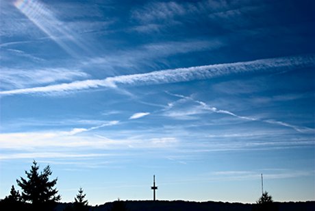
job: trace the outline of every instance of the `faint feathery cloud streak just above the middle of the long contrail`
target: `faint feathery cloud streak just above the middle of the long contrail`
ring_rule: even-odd
[[[97,56],[82,64],[86,66],[108,66],[115,73],[118,67],[128,68],[138,73],[139,66],[149,66],[157,69],[160,64],[168,66],[167,58],[172,55],[187,54],[200,51],[212,51],[225,45],[223,38],[184,39],[178,41],[153,42],[132,49],[126,48],[119,51]]]

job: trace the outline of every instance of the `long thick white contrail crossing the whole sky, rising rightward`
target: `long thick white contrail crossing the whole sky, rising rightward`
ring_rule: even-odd
[[[168,84],[253,72],[276,73],[280,71],[292,71],[294,69],[309,68],[314,66],[315,55],[300,55],[285,58],[253,60],[249,62],[192,66],[189,68],[168,69],[163,71],[154,71],[151,73],[107,77],[105,79],[90,79],[72,82],[69,84],[56,84],[51,86],[5,90],[1,91],[0,95],[19,95],[32,93],[62,94],[89,88],[116,88],[119,85],[139,86],[146,84]]]

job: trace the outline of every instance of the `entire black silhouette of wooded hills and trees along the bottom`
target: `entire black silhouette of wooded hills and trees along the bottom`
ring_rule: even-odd
[[[53,211],[134,211],[134,210],[242,210],[242,211],[309,211],[315,210],[315,201],[307,202],[274,202],[268,192],[255,204],[223,203],[223,202],[194,202],[194,201],[118,201],[105,203],[101,206],[89,206],[84,190],[79,188],[79,193],[73,203],[60,203],[61,196],[55,184],[58,178],[49,180],[52,171],[47,165],[43,171],[34,160],[26,177],[16,179],[21,188],[21,193],[12,185],[10,195],[0,200],[0,210],[53,210]]]

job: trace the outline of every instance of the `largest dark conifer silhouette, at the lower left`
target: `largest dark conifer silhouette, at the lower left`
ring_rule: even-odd
[[[57,179],[49,181],[51,175],[50,166],[47,165],[42,172],[38,172],[39,166],[37,162],[33,161],[33,166],[29,172],[25,171],[27,179],[21,177],[21,180],[16,179],[18,186],[22,188],[23,201],[29,201],[33,205],[43,203],[54,203],[60,201],[61,197],[58,195],[58,190],[53,188],[57,183]]]

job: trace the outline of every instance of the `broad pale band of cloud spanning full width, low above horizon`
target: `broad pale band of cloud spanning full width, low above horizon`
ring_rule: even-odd
[[[311,134],[305,138],[292,138],[292,136],[279,136],[273,132],[258,132],[257,134],[227,134],[227,136],[207,136],[209,132],[188,132],[186,129],[164,129],[160,132],[151,130],[121,130],[119,135],[109,130],[99,130],[85,134],[88,130],[96,127],[77,128],[68,131],[39,131],[39,132],[16,132],[0,134],[0,150],[3,159],[14,158],[53,158],[52,153],[65,153],[80,155],[95,153],[95,150],[104,149],[114,156],[123,150],[123,154],[136,155],[135,150],[158,149],[161,153],[173,151],[174,155],[198,156],[201,152],[210,151],[253,151],[270,149],[294,149],[314,145]],[[159,131],[159,130],[158,130]],[[141,134],[141,135],[139,135]],[[161,136],[164,134],[164,136]],[[287,132],[286,132],[287,134]],[[193,137],[193,141],[188,138]],[[240,141],[229,141],[238,139]],[[228,140],[228,141],[225,141]],[[262,141],[267,140],[267,141]],[[46,151],[45,153],[38,152]],[[21,154],[23,152],[23,154]],[[33,156],[33,157],[31,157]],[[105,155],[104,155],[105,156]],[[59,158],[58,156],[56,158]],[[62,157],[61,157],[62,158]]]

